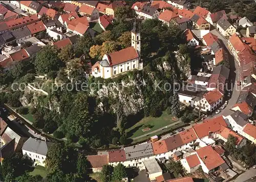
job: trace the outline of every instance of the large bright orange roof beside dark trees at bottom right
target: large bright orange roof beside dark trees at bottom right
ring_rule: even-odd
[[[197,154],[209,171],[225,163],[211,145],[198,149]]]

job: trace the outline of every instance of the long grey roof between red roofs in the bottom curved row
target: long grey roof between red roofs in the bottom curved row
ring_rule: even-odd
[[[134,145],[124,148],[126,160],[133,160],[135,158],[143,158],[154,155],[154,151],[151,143]]]

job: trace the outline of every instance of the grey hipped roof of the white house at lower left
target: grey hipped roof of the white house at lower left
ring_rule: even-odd
[[[22,149],[30,152],[45,155],[48,152],[48,145],[46,141],[29,138],[23,145]]]

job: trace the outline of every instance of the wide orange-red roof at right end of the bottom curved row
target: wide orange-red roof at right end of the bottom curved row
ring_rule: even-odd
[[[198,138],[201,139],[207,136],[209,132],[219,131],[221,129],[221,126],[227,127],[227,124],[223,119],[223,116],[205,120],[203,123],[194,125],[193,128],[197,133]]]

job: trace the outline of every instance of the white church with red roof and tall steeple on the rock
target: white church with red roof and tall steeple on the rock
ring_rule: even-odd
[[[136,22],[131,31],[131,36],[132,47],[105,54],[101,61],[97,61],[92,66],[94,77],[107,79],[133,69],[141,70],[143,68],[143,63],[140,62],[140,32],[136,29]]]

